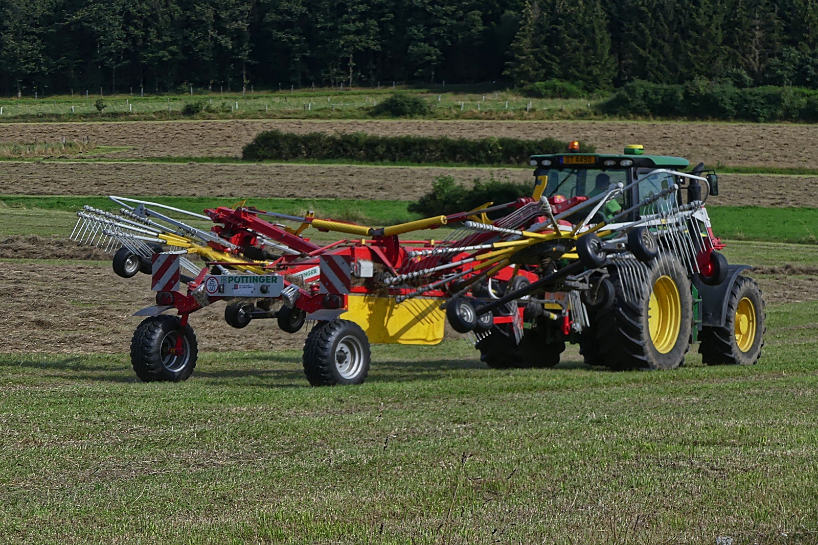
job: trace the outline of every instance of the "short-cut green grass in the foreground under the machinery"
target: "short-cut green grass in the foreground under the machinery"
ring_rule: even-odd
[[[298,352],[0,355],[4,543],[814,543],[815,302],[770,306],[761,363],[484,369],[377,346],[366,384]]]

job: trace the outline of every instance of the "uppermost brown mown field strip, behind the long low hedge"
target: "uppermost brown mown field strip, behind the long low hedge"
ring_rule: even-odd
[[[692,163],[818,168],[818,126],[762,123],[625,121],[231,120],[124,123],[3,123],[0,141],[90,138],[129,146],[115,157],[239,156],[258,132],[356,132],[380,135],[510,136],[580,139],[600,152],[643,144],[647,153],[679,155]]]

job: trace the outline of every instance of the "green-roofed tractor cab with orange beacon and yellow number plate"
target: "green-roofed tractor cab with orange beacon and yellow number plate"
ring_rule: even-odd
[[[631,185],[633,181],[645,178],[616,199],[600,209],[600,221],[607,221],[624,209],[631,208],[652,194],[666,190],[674,183],[684,184],[680,176],[672,172],[681,171],[690,165],[687,159],[666,155],[643,155],[641,145],[628,145],[624,154],[580,154],[576,142],[572,151],[566,154],[532,155],[530,163],[534,170],[534,199],[545,195],[558,202],[576,197],[592,198],[608,190],[610,185]],[[645,177],[647,176],[647,177]],[[638,212],[632,212],[630,221],[638,219]]]

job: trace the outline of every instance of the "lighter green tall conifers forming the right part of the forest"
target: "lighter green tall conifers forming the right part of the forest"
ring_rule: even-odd
[[[816,0],[529,0],[506,74],[818,87]]]

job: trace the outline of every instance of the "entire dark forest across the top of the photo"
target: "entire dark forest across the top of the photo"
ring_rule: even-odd
[[[818,0],[0,0],[0,92],[818,87]]]

